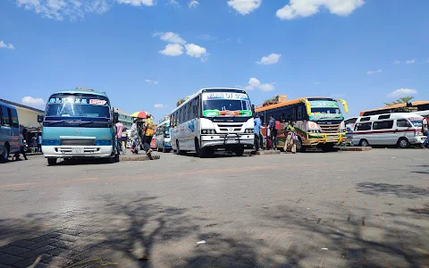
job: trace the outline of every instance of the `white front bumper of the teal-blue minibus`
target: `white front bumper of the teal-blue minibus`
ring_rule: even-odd
[[[114,153],[112,146],[69,147],[42,146],[45,157],[74,158],[74,157],[110,157]]]

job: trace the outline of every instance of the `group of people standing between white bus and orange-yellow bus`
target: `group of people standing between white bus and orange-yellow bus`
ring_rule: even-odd
[[[282,124],[280,121],[275,121],[273,115],[270,116],[268,124],[266,127],[262,125],[264,121],[264,116],[259,115],[255,118],[255,150],[277,150],[278,139],[277,135],[279,130],[282,130]],[[266,130],[266,147],[264,147],[264,135],[262,135],[262,130]],[[298,135],[295,131],[295,121],[290,121],[285,131],[286,141],[283,147],[285,152],[290,151],[292,154],[297,152],[297,141],[299,141]]]

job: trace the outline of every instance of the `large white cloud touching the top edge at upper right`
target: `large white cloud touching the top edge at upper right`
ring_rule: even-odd
[[[363,4],[364,0],[290,0],[290,4],[286,4],[275,14],[282,21],[293,20],[312,16],[326,8],[332,14],[347,16]]]

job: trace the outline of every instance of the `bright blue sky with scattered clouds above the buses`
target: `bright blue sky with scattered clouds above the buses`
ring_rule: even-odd
[[[429,100],[429,1],[3,0],[0,97],[43,108],[60,89],[169,113],[206,87],[341,97],[349,116]],[[346,115],[347,116],[347,115]]]

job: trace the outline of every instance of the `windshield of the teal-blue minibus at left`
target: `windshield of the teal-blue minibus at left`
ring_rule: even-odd
[[[46,120],[106,121],[111,117],[109,102],[105,97],[92,98],[53,97],[46,106]],[[96,98],[97,97],[97,98]]]

